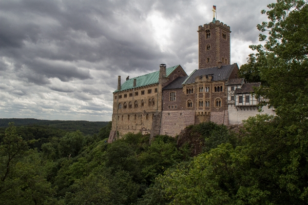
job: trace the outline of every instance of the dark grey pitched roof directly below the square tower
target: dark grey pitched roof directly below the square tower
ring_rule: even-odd
[[[227,80],[236,66],[237,64],[232,64],[221,66],[221,68],[211,67],[195,70],[189,75],[189,77],[186,79],[186,81],[184,81],[183,84],[195,83],[195,78],[202,75],[212,75],[213,81]]]

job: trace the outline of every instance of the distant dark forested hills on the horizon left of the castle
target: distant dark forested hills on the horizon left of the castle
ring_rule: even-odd
[[[9,122],[14,122],[15,126],[48,126],[70,132],[80,130],[85,135],[98,134],[100,132],[100,129],[108,124],[108,121],[0,118],[0,128],[7,128]]]

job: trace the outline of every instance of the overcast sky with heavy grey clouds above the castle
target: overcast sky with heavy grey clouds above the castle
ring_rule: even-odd
[[[111,120],[118,75],[198,69],[197,30],[213,5],[241,66],[273,2],[0,0],[0,118]]]

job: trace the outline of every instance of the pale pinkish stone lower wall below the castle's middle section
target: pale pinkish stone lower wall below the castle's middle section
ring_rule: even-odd
[[[163,111],[160,134],[175,137],[181,130],[195,124],[195,110]]]

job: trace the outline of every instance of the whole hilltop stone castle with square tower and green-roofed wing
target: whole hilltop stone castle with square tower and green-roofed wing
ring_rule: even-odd
[[[129,79],[113,92],[112,130],[108,142],[128,132],[176,136],[202,121],[241,124],[258,114],[260,98],[252,95],[260,83],[238,78],[230,65],[230,27],[213,18],[199,26],[199,68],[189,76],[180,65]],[[273,109],[262,108],[274,114]]]

